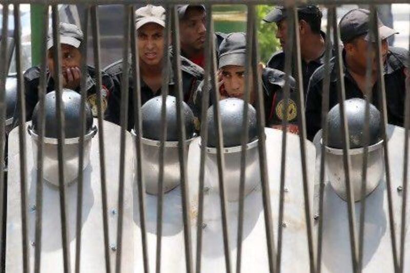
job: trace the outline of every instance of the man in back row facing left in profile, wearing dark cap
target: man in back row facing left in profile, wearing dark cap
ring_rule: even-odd
[[[283,6],[275,7],[263,20],[267,23],[276,23],[276,38],[280,41],[283,50],[273,53],[267,63],[267,67],[284,71],[286,42],[288,41],[287,31],[288,14]],[[320,30],[322,23],[322,12],[315,5],[298,7],[299,17],[299,37],[300,37],[300,54],[302,59],[303,74],[303,92],[308,90],[309,79],[313,72],[323,65],[326,34]],[[295,76],[296,65],[292,66],[292,75]]]

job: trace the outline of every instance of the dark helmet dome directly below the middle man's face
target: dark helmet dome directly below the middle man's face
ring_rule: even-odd
[[[219,112],[223,131],[224,147],[239,146],[242,143],[243,103],[239,98],[227,98],[219,101]],[[249,134],[248,143],[257,138],[256,110],[251,104],[248,108]],[[214,106],[207,112],[208,147],[216,147],[216,125],[214,120]]]

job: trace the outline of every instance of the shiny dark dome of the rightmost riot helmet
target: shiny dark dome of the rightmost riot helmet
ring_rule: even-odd
[[[353,98],[346,100],[344,105],[350,148],[362,148],[364,146],[363,125],[365,122],[364,113],[366,110],[366,101],[361,98]],[[380,118],[379,110],[377,110],[373,104],[370,104],[369,145],[378,143],[381,140]],[[329,111],[327,124],[329,125],[328,146],[335,149],[342,149],[343,139],[341,134],[339,104]]]

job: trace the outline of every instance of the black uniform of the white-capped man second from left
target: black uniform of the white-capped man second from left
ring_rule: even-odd
[[[172,64],[172,54],[170,55],[170,64]],[[191,107],[193,104],[193,94],[196,90],[199,82],[203,78],[203,69],[195,65],[192,61],[188,60],[185,57],[181,56],[181,72],[182,72],[182,92],[183,100],[187,102]],[[122,78],[122,60],[116,61],[110,66],[108,66],[105,71],[112,75],[116,82],[115,91],[110,100],[109,112],[110,112],[110,121],[116,124],[120,124],[120,106],[121,106],[121,78]],[[176,95],[176,85],[174,81],[174,73],[172,68],[169,68],[169,95]],[[130,69],[129,74],[129,104],[128,104],[128,130],[131,130],[134,127],[134,104],[133,104],[133,87],[134,87],[134,77]],[[161,90],[154,93],[153,90],[142,80],[141,78],[141,105],[147,102],[149,99],[159,96]]]

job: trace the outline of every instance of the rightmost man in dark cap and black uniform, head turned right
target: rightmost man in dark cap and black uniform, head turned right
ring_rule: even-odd
[[[340,20],[340,38],[343,42],[343,73],[346,99],[366,96],[366,69],[372,70],[373,104],[381,110],[377,92],[377,60],[375,43],[370,41],[370,11],[353,9]],[[408,50],[389,47],[387,39],[397,32],[378,23],[381,51],[383,58],[383,75],[386,90],[388,123],[402,126],[404,112],[405,79]],[[367,67],[367,53],[373,57],[372,67]],[[320,67],[313,75],[306,98],[306,126],[308,138],[313,139],[321,128],[322,84],[325,77],[324,67]],[[337,81],[339,75],[335,66],[335,58],[331,60],[330,108],[338,103]]]

